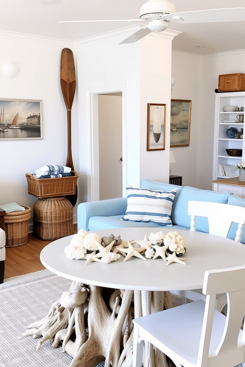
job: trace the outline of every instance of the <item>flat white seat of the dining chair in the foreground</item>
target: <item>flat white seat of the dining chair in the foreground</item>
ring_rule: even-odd
[[[201,299],[180,305],[151,315],[134,319],[133,323],[140,326],[140,335],[143,339],[154,344],[174,361],[177,360],[184,366],[197,364],[198,349],[200,344],[201,329],[205,302]],[[172,322],[174,320],[174,322]],[[176,320],[179,322],[176,323]],[[209,355],[215,353],[223,334],[226,316],[215,310]],[[159,328],[162,325],[162,329]],[[144,330],[142,330],[142,328]],[[147,331],[146,331],[147,330]],[[145,337],[145,335],[147,335]],[[239,338],[241,338],[242,331]]]

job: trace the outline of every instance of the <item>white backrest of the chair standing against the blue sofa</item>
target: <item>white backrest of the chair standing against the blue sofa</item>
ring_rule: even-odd
[[[209,201],[188,201],[188,215],[191,215],[191,231],[195,231],[197,216],[207,217],[209,233],[221,237],[227,237],[232,222],[238,223],[235,241],[241,242],[245,224],[244,207]]]

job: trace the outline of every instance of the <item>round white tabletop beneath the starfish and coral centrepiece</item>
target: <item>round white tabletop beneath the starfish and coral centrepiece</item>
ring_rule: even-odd
[[[98,235],[120,235],[122,240],[143,240],[151,232],[168,233],[168,228],[113,228],[94,231]],[[245,245],[223,237],[187,230],[177,231],[184,237],[187,253],[186,265],[172,263],[166,266],[162,258],[146,261],[123,257],[109,264],[66,258],[64,248],[72,236],[51,242],[40,254],[42,264],[64,278],[118,289],[169,291],[202,288],[205,270],[243,265]]]

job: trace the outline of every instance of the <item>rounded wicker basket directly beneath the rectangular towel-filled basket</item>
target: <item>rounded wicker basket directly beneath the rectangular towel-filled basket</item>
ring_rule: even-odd
[[[38,199],[33,205],[33,233],[42,240],[73,235],[73,207],[65,197]]]

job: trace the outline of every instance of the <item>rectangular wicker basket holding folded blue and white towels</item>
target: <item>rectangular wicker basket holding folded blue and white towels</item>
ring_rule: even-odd
[[[28,193],[37,196],[39,199],[75,195],[76,182],[79,176],[75,171],[71,171],[71,174],[69,177],[35,178],[33,175],[26,173]]]

